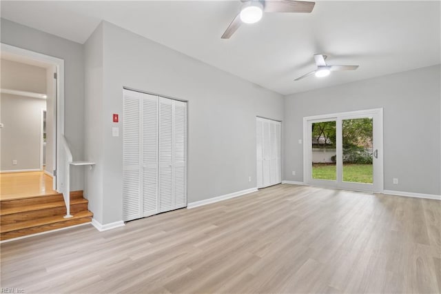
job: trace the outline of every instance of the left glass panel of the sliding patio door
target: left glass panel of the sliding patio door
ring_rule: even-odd
[[[312,179],[337,179],[336,121],[312,123],[311,130]]]

